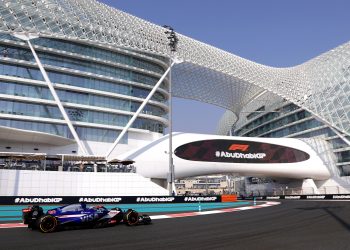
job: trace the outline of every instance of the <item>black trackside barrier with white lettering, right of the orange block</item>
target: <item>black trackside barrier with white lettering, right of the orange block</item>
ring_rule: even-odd
[[[350,200],[350,194],[241,196],[239,200]]]

